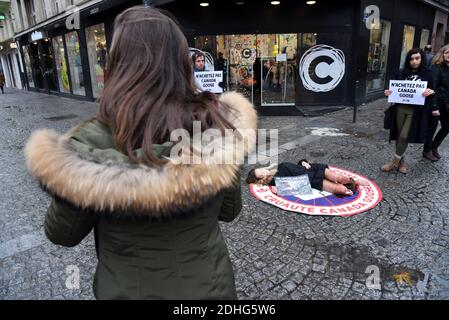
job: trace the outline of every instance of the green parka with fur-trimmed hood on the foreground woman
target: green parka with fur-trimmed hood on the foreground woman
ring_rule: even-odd
[[[256,129],[255,110],[240,94],[223,94],[220,101],[230,107],[225,116],[237,129]],[[250,152],[255,136],[241,139]],[[154,151],[166,157],[172,147],[167,142]],[[239,165],[135,164],[96,120],[64,135],[38,130],[25,155],[28,170],[53,197],[47,237],[71,247],[94,230],[96,298],[236,298],[218,221],[240,212]]]

